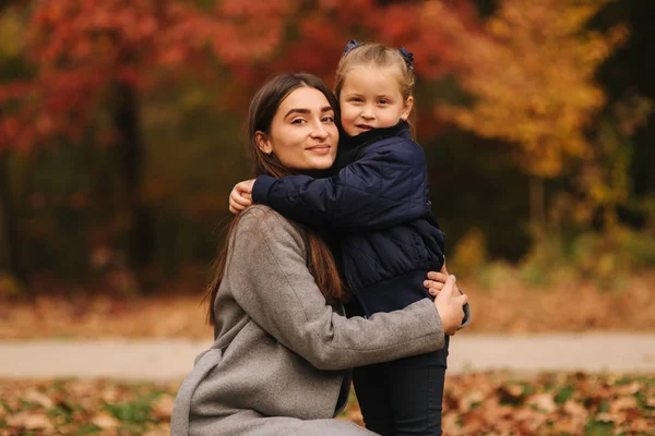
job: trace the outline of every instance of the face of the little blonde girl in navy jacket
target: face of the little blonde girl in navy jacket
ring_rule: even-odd
[[[338,102],[348,135],[391,128],[409,117],[414,98],[403,98],[398,74],[394,66],[376,65],[355,66],[346,73]]]

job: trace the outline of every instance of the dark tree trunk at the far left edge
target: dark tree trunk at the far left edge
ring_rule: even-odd
[[[27,274],[21,255],[19,220],[9,186],[9,152],[0,154],[0,269],[25,282]]]

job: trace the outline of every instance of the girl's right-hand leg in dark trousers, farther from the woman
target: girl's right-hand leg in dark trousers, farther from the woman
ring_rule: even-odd
[[[441,435],[449,337],[442,350],[389,362],[391,435]]]

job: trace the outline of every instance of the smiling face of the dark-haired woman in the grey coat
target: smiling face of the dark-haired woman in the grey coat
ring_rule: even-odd
[[[325,170],[336,157],[338,130],[334,110],[319,89],[301,86],[277,108],[271,133],[257,132],[257,144],[265,154],[294,170]]]

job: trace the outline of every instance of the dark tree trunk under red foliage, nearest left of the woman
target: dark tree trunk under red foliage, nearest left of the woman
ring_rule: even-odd
[[[115,85],[115,125],[119,133],[118,166],[123,189],[123,208],[128,217],[127,262],[135,272],[151,265],[154,253],[154,225],[151,210],[141,198],[143,144],[139,122],[139,101],[133,87]]]

